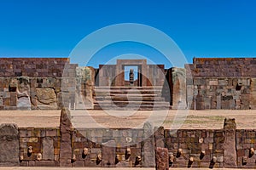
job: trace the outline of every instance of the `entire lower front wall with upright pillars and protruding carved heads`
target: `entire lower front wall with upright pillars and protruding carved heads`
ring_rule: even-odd
[[[7,147],[8,146],[8,147]],[[73,128],[68,110],[60,127],[0,127],[0,166],[255,168],[256,130]]]

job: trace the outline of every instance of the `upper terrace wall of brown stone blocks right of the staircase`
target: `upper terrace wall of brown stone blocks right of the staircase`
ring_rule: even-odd
[[[191,109],[253,109],[256,58],[194,59],[185,65]],[[192,99],[191,99],[192,98]]]

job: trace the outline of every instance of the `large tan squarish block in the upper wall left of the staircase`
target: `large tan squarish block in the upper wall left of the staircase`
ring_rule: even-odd
[[[53,88],[36,88],[39,109],[57,109],[57,97]]]

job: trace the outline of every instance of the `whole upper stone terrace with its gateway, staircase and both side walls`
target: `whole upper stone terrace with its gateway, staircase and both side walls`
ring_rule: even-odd
[[[137,71],[125,78],[129,66]],[[2,58],[0,70],[0,110],[256,108],[256,58],[195,58],[170,69],[146,59],[92,68],[67,58]]]

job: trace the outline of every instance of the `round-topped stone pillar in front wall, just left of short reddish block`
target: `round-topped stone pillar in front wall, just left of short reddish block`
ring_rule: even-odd
[[[144,141],[142,148],[143,167],[155,167],[154,156],[154,127],[150,122],[145,122],[144,126]]]

